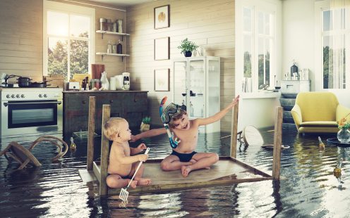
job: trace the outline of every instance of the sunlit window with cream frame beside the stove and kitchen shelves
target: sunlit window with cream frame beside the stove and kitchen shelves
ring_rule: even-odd
[[[44,1],[44,75],[91,72],[94,26],[95,9]]]

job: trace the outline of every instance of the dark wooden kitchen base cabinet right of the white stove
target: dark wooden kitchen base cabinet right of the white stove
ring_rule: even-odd
[[[140,127],[148,115],[147,91],[64,91],[64,136],[87,131],[89,98],[96,97],[95,132],[101,134],[102,105],[111,105],[111,117],[128,120],[131,129]]]

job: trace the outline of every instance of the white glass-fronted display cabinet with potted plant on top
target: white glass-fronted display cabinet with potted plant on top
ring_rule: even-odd
[[[190,119],[210,117],[220,110],[220,58],[212,56],[179,58],[174,65],[174,103],[187,107]],[[200,128],[219,132],[220,122]]]

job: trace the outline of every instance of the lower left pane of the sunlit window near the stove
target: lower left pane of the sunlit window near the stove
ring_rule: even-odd
[[[68,41],[64,39],[49,37],[48,69],[49,75],[67,76],[68,70]]]

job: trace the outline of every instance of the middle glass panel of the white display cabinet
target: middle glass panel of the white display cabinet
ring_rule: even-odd
[[[189,102],[190,117],[204,117],[205,113],[205,61],[204,59],[189,60]]]

